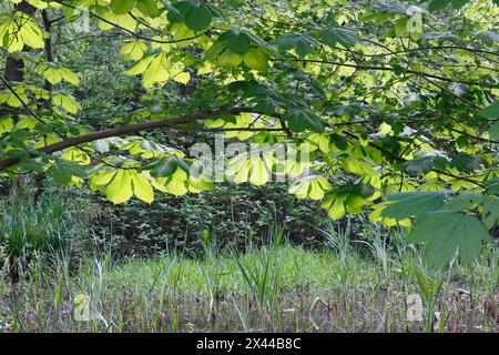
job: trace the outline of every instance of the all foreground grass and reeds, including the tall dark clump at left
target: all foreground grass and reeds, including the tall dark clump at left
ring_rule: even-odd
[[[0,332],[499,331],[497,245],[435,271],[405,231],[357,221],[354,237],[348,220],[319,230],[323,250],[272,225],[259,247],[248,229],[245,252],[204,231],[198,253],[123,258],[90,252],[73,204],[55,197],[2,205]],[[415,296],[421,318],[409,321]]]

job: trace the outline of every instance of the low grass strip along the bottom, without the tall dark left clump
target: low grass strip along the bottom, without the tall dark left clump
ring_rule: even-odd
[[[416,252],[375,254],[283,244],[198,260],[106,254],[73,268],[60,256],[34,263],[17,290],[0,287],[0,331],[497,332],[493,253],[450,274],[427,270]],[[421,322],[406,318],[410,293],[422,298]],[[82,296],[88,322],[72,314]]]

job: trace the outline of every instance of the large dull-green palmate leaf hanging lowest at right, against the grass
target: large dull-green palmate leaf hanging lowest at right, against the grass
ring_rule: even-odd
[[[455,211],[434,211],[417,219],[409,240],[425,243],[425,260],[434,267],[441,267],[452,260],[456,252],[461,262],[472,263],[482,242],[489,241],[490,235],[475,216]]]

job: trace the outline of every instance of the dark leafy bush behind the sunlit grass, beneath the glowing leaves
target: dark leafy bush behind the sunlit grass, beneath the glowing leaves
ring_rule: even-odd
[[[217,185],[201,194],[156,194],[151,205],[130,201],[114,206],[99,199],[100,217],[93,231],[99,244],[119,254],[196,254],[203,231],[224,248],[266,243],[275,229],[284,229],[294,243],[318,245],[323,237],[309,224],[320,225],[323,211],[314,202],[297,201],[286,189],[284,184]]]

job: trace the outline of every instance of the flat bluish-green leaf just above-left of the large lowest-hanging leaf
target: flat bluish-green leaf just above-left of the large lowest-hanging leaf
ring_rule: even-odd
[[[405,220],[440,210],[445,203],[444,196],[439,192],[396,193],[388,195],[387,200],[395,202],[383,210],[381,216],[396,220]]]

